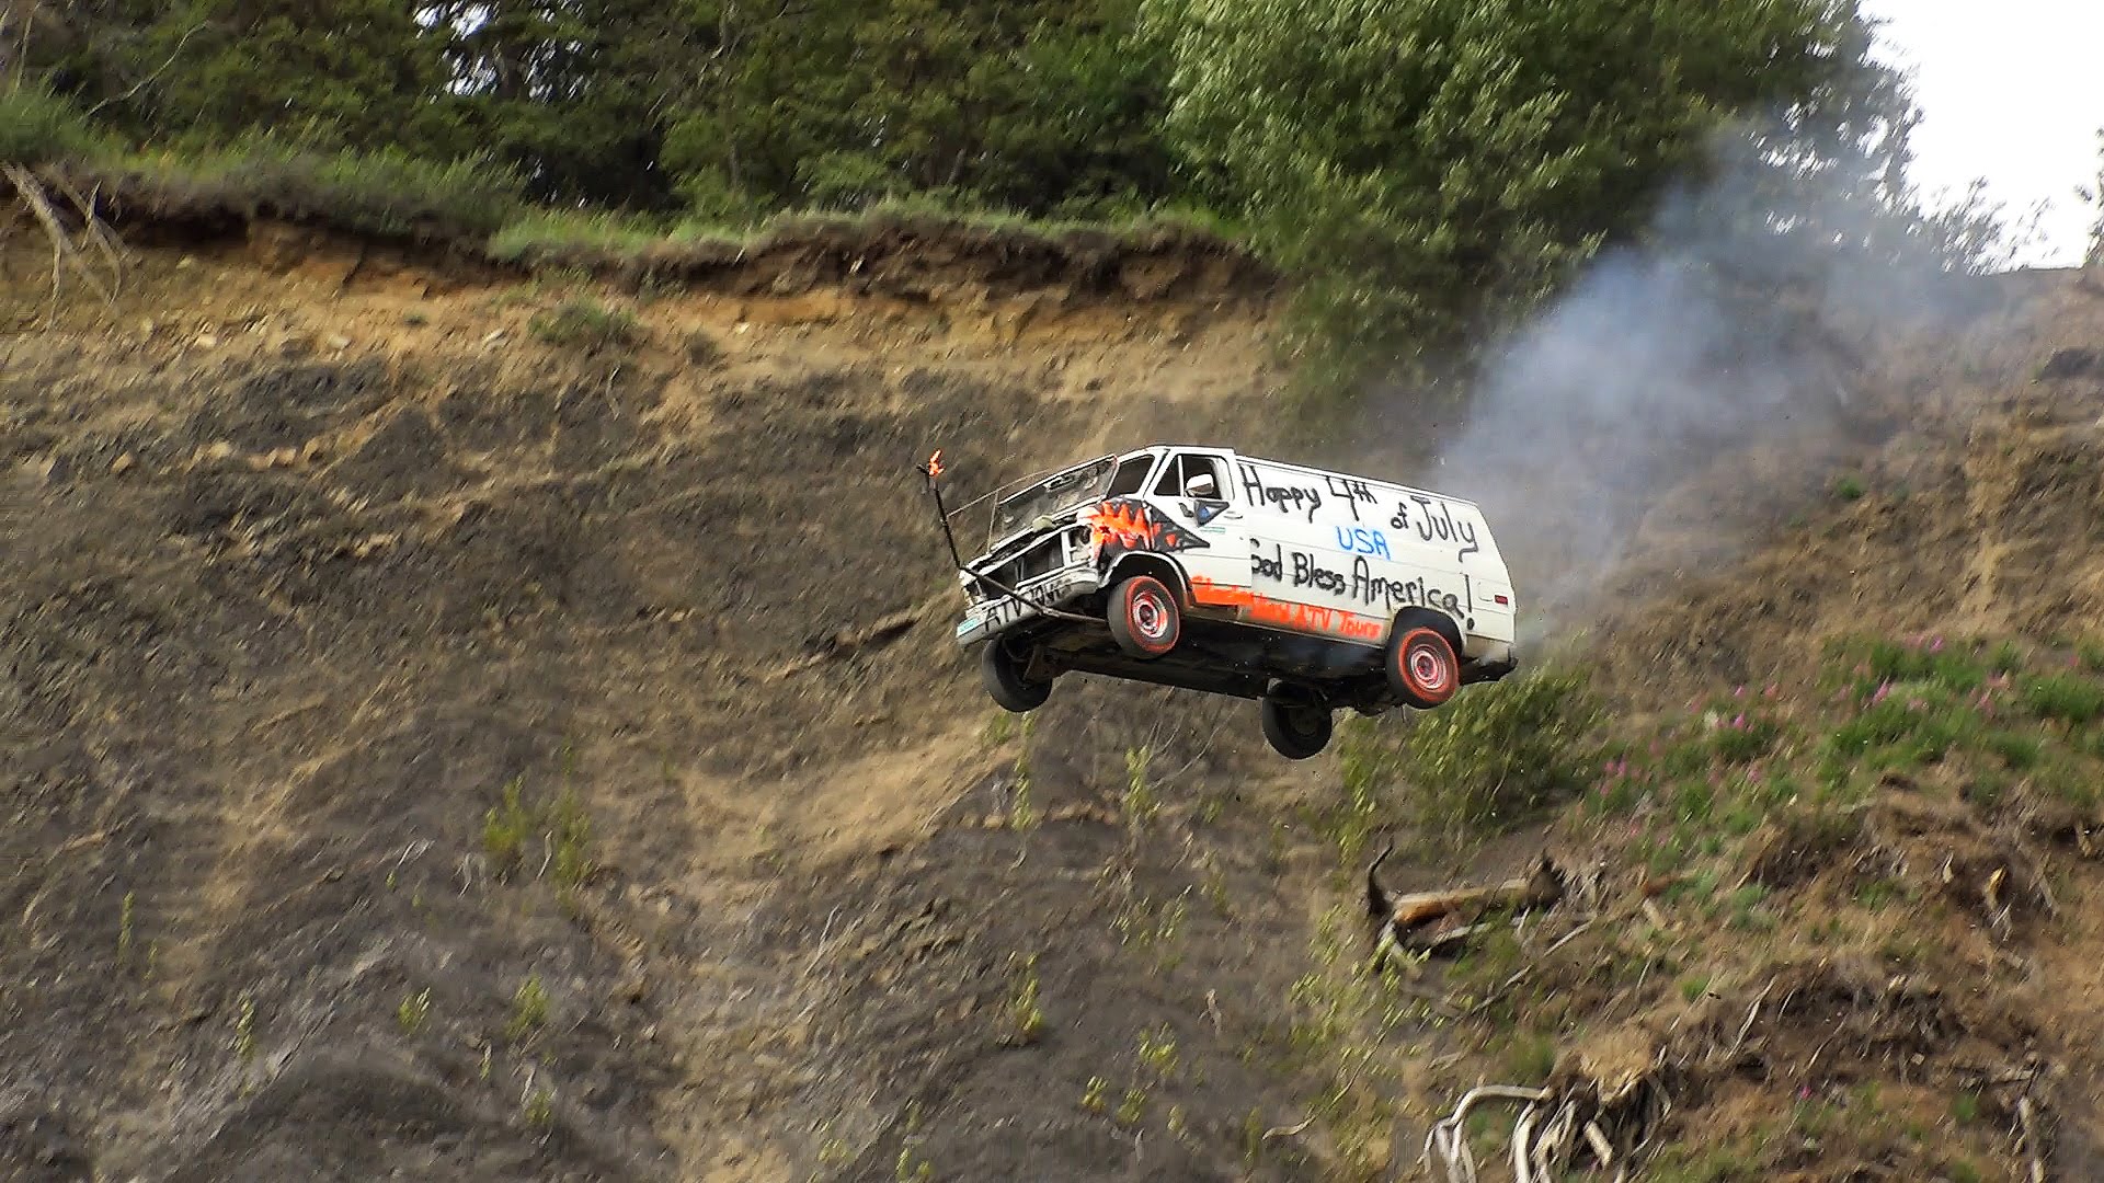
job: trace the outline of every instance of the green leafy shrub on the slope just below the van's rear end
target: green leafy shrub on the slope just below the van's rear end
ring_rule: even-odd
[[[1403,741],[1424,825],[1498,831],[1584,787],[1601,720],[1584,678],[1542,669],[1475,686],[1427,711]]]

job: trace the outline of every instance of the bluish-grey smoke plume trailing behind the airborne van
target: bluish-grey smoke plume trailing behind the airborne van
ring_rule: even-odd
[[[1963,316],[1967,253],[1862,185],[1778,187],[1774,166],[1721,154],[1492,349],[1416,478],[1483,505],[1523,640],[1555,636],[1639,575],[1729,558],[1885,432],[1858,398],[1862,358]]]

